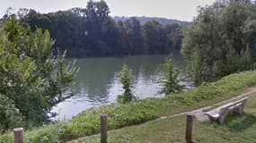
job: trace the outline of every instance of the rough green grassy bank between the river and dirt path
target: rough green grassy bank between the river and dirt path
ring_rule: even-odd
[[[167,114],[190,111],[220,100],[234,97],[246,88],[256,86],[256,71],[233,74],[199,88],[164,98],[147,98],[127,105],[106,105],[91,108],[69,122],[59,122],[25,132],[30,142],[56,142],[93,135],[100,130],[100,114],[108,114],[109,129],[119,129],[132,124],[153,120]],[[0,142],[13,142],[13,133],[0,136]]]

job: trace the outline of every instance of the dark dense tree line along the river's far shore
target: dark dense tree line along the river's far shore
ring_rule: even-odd
[[[169,54],[181,48],[181,26],[158,21],[141,24],[136,17],[115,21],[104,1],[56,13],[20,9],[16,15],[34,30],[48,29],[54,47],[68,56]]]

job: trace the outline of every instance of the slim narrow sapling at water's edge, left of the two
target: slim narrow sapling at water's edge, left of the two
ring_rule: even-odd
[[[122,70],[119,71],[119,80],[121,81],[124,89],[124,93],[119,95],[118,102],[119,103],[128,103],[135,97],[131,92],[131,84],[132,84],[132,71],[129,69],[127,64],[124,64]]]

